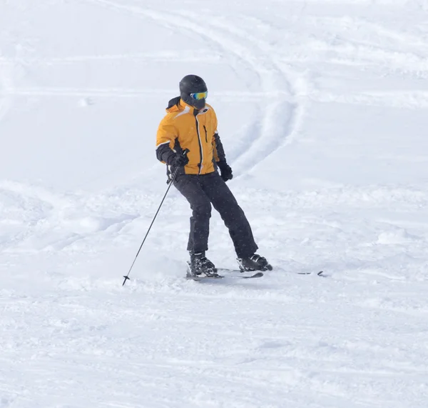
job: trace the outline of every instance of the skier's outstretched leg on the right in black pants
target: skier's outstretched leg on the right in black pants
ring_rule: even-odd
[[[238,258],[250,257],[257,251],[258,246],[255,244],[250,223],[232,191],[217,171],[200,177],[203,179],[203,190],[229,229]]]

